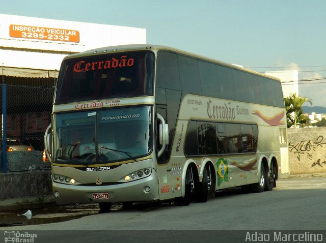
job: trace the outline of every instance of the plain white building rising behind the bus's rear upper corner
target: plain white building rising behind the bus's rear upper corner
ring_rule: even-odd
[[[271,71],[265,74],[277,77],[281,80],[283,96],[289,97],[294,93],[299,96],[298,72],[297,70]]]

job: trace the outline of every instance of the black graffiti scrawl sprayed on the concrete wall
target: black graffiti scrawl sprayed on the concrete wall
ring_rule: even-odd
[[[318,151],[323,153],[323,158],[314,158],[313,154]],[[289,152],[293,153],[297,160],[300,162],[302,159],[308,159],[312,161],[311,166],[326,166],[326,139],[323,136],[319,136],[315,142],[300,141],[300,142],[289,142]]]

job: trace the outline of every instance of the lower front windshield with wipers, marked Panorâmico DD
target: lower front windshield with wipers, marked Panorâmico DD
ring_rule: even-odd
[[[56,114],[53,161],[87,166],[149,154],[151,109],[141,106]]]

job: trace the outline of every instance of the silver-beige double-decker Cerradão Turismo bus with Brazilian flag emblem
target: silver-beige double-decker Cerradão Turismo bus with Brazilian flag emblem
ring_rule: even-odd
[[[270,191],[287,146],[282,87],[164,46],[72,54],[45,143],[58,204],[108,211],[113,202],[205,202],[232,187]]]

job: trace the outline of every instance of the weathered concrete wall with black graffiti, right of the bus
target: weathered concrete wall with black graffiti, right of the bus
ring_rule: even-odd
[[[326,173],[326,128],[288,129],[290,175]]]

